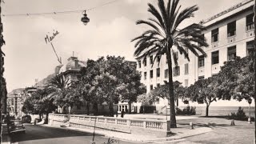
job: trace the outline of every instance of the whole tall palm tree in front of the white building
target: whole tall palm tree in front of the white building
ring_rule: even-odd
[[[135,57],[142,57],[146,60],[146,57],[150,56],[150,54],[156,54],[154,58],[155,61],[156,58],[161,59],[162,55],[166,54],[169,68],[170,127],[177,127],[174,109],[172,55],[175,65],[178,65],[178,63],[173,46],[178,49],[180,54],[184,54],[185,58],[188,60],[190,60],[190,58],[187,50],[190,50],[196,56],[199,56],[198,53],[206,56],[201,46],[208,46],[206,39],[202,37],[201,34],[204,27],[200,24],[193,24],[181,30],[178,29],[178,26],[180,26],[184,20],[193,17],[194,12],[198,10],[198,6],[190,6],[181,10],[181,6],[178,6],[178,2],[179,0],[168,0],[166,5],[164,0],[158,0],[159,10],[149,3],[148,11],[154,18],[149,18],[148,21],[138,20],[136,24],[146,24],[150,26],[151,29],[146,30],[142,35],[132,40],[132,42],[137,41],[135,43]],[[198,43],[200,46],[195,43]]]

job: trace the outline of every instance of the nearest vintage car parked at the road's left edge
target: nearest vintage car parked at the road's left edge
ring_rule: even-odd
[[[26,133],[26,128],[23,125],[21,120],[10,120],[10,133],[18,133],[21,132],[22,134]]]

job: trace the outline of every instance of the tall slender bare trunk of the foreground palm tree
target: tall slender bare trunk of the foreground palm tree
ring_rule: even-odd
[[[169,72],[169,100],[170,100],[170,127],[176,128],[176,117],[175,117],[175,102],[174,102],[174,84],[173,84],[173,71],[172,71],[172,60],[170,56],[170,48],[172,47],[169,44],[167,44],[167,53],[166,58],[168,62],[168,72]]]

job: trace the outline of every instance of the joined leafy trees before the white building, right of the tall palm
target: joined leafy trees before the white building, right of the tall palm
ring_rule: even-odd
[[[218,74],[198,80],[189,87],[186,95],[194,102],[206,103],[206,116],[211,102],[254,98],[253,57],[236,57],[225,62]]]

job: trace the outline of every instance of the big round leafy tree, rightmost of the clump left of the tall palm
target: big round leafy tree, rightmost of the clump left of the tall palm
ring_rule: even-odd
[[[94,74],[90,90],[97,96],[96,99],[109,104],[110,116],[114,116],[113,106],[119,99],[135,102],[138,94],[146,91],[140,83],[136,66],[130,65],[123,57],[107,56],[106,60],[101,58],[93,71],[98,71],[98,74]]]

